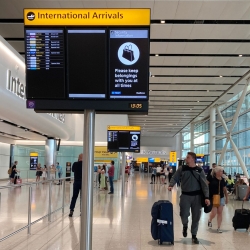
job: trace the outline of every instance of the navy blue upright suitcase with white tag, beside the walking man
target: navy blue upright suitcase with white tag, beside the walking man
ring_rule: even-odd
[[[152,210],[151,234],[158,244],[169,242],[174,245],[173,204],[170,201],[155,202]]]

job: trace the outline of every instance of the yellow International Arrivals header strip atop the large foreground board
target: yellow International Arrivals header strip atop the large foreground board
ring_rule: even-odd
[[[150,9],[24,9],[24,25],[150,25]]]

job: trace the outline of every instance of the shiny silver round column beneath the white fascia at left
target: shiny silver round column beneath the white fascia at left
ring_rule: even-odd
[[[48,179],[50,179],[50,166],[56,166],[56,140],[48,138],[45,141],[45,164],[48,169]]]

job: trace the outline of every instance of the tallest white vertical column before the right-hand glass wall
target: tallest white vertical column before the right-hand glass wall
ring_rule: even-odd
[[[215,159],[215,107],[210,108],[210,137],[209,137],[209,155],[210,155],[210,166],[216,161]]]

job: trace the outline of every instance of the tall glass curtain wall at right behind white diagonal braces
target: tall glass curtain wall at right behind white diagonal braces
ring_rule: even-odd
[[[232,126],[233,116],[236,112],[238,106],[238,100],[240,94],[233,97],[228,104],[224,107],[221,107],[221,114],[226,121],[227,128],[230,129]],[[226,131],[222,127],[218,115],[216,115],[216,162],[219,161],[221,150],[225,145],[226,141]],[[209,136],[210,136],[210,121],[204,121],[203,123],[195,125],[194,131],[194,146],[196,154],[204,154],[205,161],[209,162]],[[245,97],[245,100],[242,104],[238,120],[235,124],[235,127],[232,131],[232,139],[239,150],[239,153],[246,164],[248,173],[250,174],[250,91]],[[190,133],[185,133],[183,135],[183,144],[182,144],[182,156],[185,157],[186,153],[190,150]],[[225,171],[228,174],[233,173],[243,173],[237,157],[232,149],[232,145],[229,142],[227,146],[226,153],[222,160],[222,166],[224,166]]]

